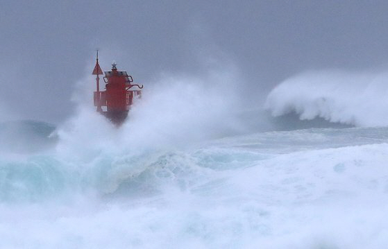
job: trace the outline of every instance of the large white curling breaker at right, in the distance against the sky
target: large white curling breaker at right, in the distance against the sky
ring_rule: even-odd
[[[312,71],[275,87],[265,106],[274,116],[296,112],[355,126],[388,125],[388,74]]]

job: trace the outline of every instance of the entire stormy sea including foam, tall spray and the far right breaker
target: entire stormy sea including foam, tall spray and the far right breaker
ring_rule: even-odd
[[[119,129],[81,90],[57,128],[3,123],[0,248],[385,248],[385,78],[286,80],[279,118],[204,91],[232,85],[211,74],[145,88]]]

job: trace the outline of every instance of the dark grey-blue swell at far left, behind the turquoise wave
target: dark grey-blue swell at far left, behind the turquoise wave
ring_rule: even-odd
[[[51,148],[58,141],[56,126],[42,121],[0,123],[0,153],[32,153]]]

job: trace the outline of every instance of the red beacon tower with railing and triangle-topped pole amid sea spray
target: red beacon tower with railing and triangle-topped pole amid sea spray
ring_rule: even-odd
[[[118,71],[117,65],[112,64],[112,71],[105,71],[103,81],[106,83],[106,91],[100,91],[99,75],[103,72],[99,65],[99,51],[97,51],[96,66],[92,72],[96,75],[96,92],[94,92],[94,106],[97,112],[110,119],[117,126],[121,125],[128,116],[133,98],[140,97],[143,88],[141,85],[133,85],[132,76],[126,71]],[[133,88],[135,87],[135,88]]]

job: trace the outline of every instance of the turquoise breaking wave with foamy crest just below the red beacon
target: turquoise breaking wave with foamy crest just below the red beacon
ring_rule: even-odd
[[[165,189],[192,189],[217,171],[238,169],[263,158],[261,153],[221,148],[101,154],[92,162],[55,155],[10,157],[0,161],[0,201],[41,202],[69,195],[158,196]]]

